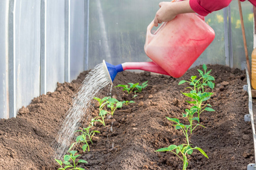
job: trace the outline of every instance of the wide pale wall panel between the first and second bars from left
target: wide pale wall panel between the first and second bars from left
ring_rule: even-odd
[[[40,0],[17,0],[15,11],[16,109],[40,95]]]

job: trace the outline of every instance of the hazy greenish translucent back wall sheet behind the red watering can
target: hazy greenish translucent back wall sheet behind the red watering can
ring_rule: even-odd
[[[159,9],[160,1],[90,1],[90,29],[89,29],[89,67],[94,67],[102,59],[117,65],[127,61],[150,61],[144,53],[147,25],[154,19],[155,12]],[[242,45],[241,27],[237,27],[239,20],[238,7],[233,7],[237,1],[232,2],[232,29],[234,49],[234,67],[241,67],[244,53]],[[245,21],[246,37],[249,42],[249,52],[252,36],[252,19],[249,2],[242,2]],[[238,16],[238,18],[237,18]],[[223,10],[214,11],[205,17],[216,37],[208,48],[201,54],[192,67],[203,64],[225,65],[224,42],[224,16]],[[240,31],[238,33],[238,31]],[[192,33],[192,32],[191,32]],[[241,35],[241,36],[240,36]],[[250,36],[249,36],[250,35]]]

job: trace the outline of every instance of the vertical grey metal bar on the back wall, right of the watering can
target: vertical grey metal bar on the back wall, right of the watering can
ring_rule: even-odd
[[[226,66],[229,66],[229,35],[228,35],[228,9],[223,9],[224,17],[224,42],[225,42],[225,59]]]

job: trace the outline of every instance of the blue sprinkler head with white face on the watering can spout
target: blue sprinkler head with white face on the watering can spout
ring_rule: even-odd
[[[102,65],[103,65],[106,78],[108,79],[109,83],[113,85],[113,81],[117,73],[123,71],[122,64],[114,66],[108,62],[105,62],[105,60],[103,60]]]

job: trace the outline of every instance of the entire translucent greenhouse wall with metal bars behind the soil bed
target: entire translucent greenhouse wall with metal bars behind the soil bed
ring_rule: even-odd
[[[151,61],[144,53],[147,25],[156,0],[0,1],[0,118],[15,117],[34,97],[53,92],[103,59]],[[249,57],[253,50],[253,6],[242,3]],[[238,4],[205,17],[216,32],[192,65],[241,68],[245,61]],[[154,28],[157,29],[157,28]]]

